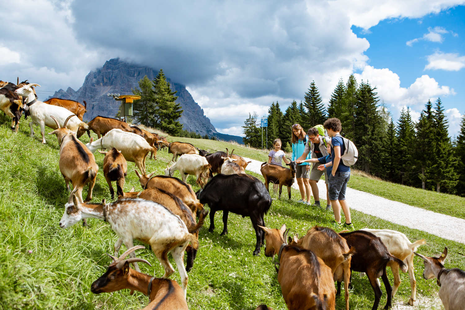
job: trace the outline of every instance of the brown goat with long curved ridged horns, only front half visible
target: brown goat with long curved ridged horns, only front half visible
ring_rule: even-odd
[[[151,264],[145,259],[125,257],[137,249],[144,249],[142,245],[133,246],[120,257],[112,257],[113,263],[108,266],[106,272],[91,285],[94,294],[109,293],[116,290],[138,290],[148,295],[150,303],[144,309],[188,310],[186,298],[179,284],[170,279],[155,278],[133,270],[130,263],[142,262]]]

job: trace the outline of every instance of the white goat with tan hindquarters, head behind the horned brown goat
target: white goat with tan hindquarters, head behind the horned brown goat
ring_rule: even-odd
[[[105,136],[95,141],[91,138],[86,146],[93,153],[100,148],[111,149],[115,147],[127,161],[134,162],[144,174],[147,154],[150,150],[153,150],[153,147],[141,136],[121,129],[112,129]]]

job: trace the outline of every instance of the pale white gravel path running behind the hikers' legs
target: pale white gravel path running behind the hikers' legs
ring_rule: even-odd
[[[261,173],[260,165],[262,162],[251,160],[252,163],[247,165],[247,170]],[[320,180],[318,183],[320,199],[326,200],[326,185]],[[292,187],[299,189],[297,182]],[[283,192],[286,191],[283,189]],[[287,191],[286,191],[287,195]],[[442,237],[445,239],[457,241],[465,244],[465,220],[454,218],[449,215],[428,211],[398,201],[392,201],[386,198],[375,196],[364,191],[357,191],[347,187],[347,203],[351,209],[370,214],[386,221],[404,225],[420,231]],[[298,200],[299,198],[296,198]],[[357,220],[355,220],[355,223]]]

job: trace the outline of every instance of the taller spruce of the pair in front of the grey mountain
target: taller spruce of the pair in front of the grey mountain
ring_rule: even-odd
[[[153,79],[153,94],[156,104],[157,127],[170,135],[179,134],[182,125],[178,119],[181,117],[183,110],[175,102],[178,97],[174,96],[176,92],[171,91],[163,69],[160,69],[156,78]]]

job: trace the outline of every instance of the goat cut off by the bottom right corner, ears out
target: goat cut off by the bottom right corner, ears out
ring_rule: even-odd
[[[452,268],[445,269],[444,261],[447,257],[447,247],[440,257],[426,257],[414,252],[423,259],[425,271],[423,277],[426,280],[436,278],[439,285],[439,298],[445,310],[462,310],[465,305],[465,271]]]

